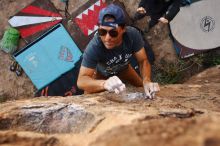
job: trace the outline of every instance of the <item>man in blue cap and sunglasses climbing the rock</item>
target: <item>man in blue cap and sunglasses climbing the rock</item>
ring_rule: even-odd
[[[107,6],[100,11],[98,24],[98,33],[83,54],[78,87],[85,93],[105,90],[120,93],[126,88],[125,81],[143,86],[146,97],[153,98],[159,86],[151,82],[151,66],[141,34],[135,28],[125,26],[123,9],[114,4]],[[130,65],[133,55],[142,78]]]

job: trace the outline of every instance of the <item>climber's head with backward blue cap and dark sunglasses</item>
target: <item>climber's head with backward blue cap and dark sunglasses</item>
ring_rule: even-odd
[[[111,4],[99,13],[98,34],[107,49],[119,46],[125,32],[125,14],[122,8]]]

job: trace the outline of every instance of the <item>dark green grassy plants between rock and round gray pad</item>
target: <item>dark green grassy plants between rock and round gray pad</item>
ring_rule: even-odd
[[[178,59],[168,63],[161,60],[152,66],[152,78],[160,84],[181,83],[185,78],[192,76],[205,68],[220,64],[220,54],[215,51],[201,53],[186,59]]]

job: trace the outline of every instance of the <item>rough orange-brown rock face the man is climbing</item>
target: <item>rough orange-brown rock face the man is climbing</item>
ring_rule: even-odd
[[[212,78],[206,83],[193,77],[193,83],[163,86],[153,100],[103,92],[6,102],[0,105],[0,144],[218,146],[220,74],[211,72],[219,69],[197,75]],[[130,87],[127,94],[142,91]]]

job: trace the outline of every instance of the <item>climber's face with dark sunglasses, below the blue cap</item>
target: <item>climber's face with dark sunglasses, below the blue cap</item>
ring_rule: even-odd
[[[119,46],[123,40],[123,33],[125,28],[122,27],[109,27],[109,26],[99,26],[99,36],[107,49],[112,49]]]

